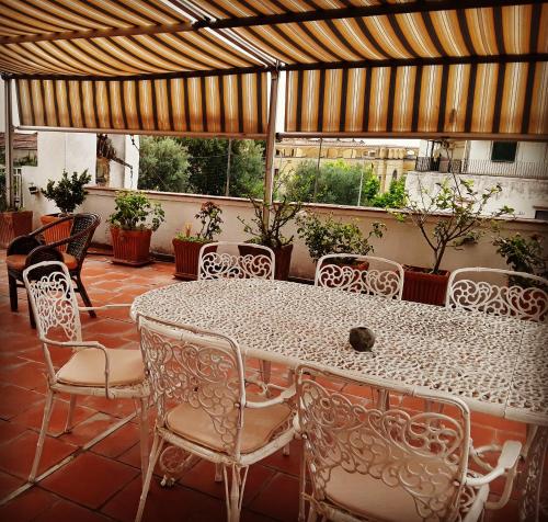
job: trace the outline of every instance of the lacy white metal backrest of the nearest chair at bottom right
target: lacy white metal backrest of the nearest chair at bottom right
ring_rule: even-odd
[[[334,386],[324,387],[323,379]],[[424,520],[456,520],[470,438],[470,413],[460,399],[301,365],[297,404],[315,501],[330,504],[330,480],[351,489],[357,474],[372,488],[392,491],[388,498],[398,489]],[[386,510],[379,518],[392,520]]]

